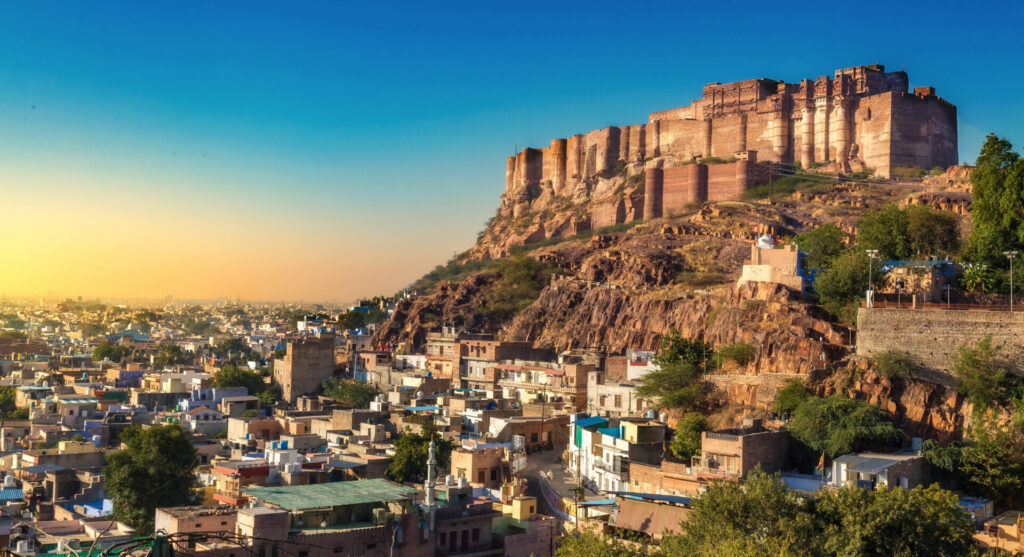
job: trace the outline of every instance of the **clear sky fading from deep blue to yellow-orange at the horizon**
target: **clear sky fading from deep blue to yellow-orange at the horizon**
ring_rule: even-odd
[[[1024,144],[1024,5],[0,2],[0,294],[346,301],[472,246],[505,158],[705,83],[883,63]]]

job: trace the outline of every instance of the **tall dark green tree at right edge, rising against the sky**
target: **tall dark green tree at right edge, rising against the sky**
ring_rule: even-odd
[[[989,134],[971,172],[974,201],[966,255],[993,267],[1007,265],[1002,252],[1024,247],[1024,161],[1010,141]]]

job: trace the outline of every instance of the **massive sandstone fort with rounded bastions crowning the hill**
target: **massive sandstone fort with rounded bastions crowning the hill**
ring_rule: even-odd
[[[934,87],[910,92],[905,72],[880,65],[800,83],[709,83],[700,98],[650,113],[645,124],[554,139],[509,157],[503,211],[518,217],[539,199],[593,200],[599,207],[591,224],[600,226],[735,199],[757,185],[759,160],[838,171],[870,168],[888,177],[896,167],[956,164],[956,140],[953,104]],[[699,164],[713,158],[736,161]],[[608,180],[640,173],[645,183],[630,196],[600,199]],[[580,224],[559,226],[567,231]]]

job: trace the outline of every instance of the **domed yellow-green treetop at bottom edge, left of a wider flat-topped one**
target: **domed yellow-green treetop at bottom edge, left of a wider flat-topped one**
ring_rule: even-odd
[[[715,481],[691,506],[683,532],[663,540],[667,555],[813,555],[811,507],[777,475]]]

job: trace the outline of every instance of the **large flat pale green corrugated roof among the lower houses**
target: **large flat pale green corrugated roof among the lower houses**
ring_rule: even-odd
[[[242,489],[245,495],[253,499],[290,511],[398,501],[409,499],[411,494],[418,490],[384,479]]]

